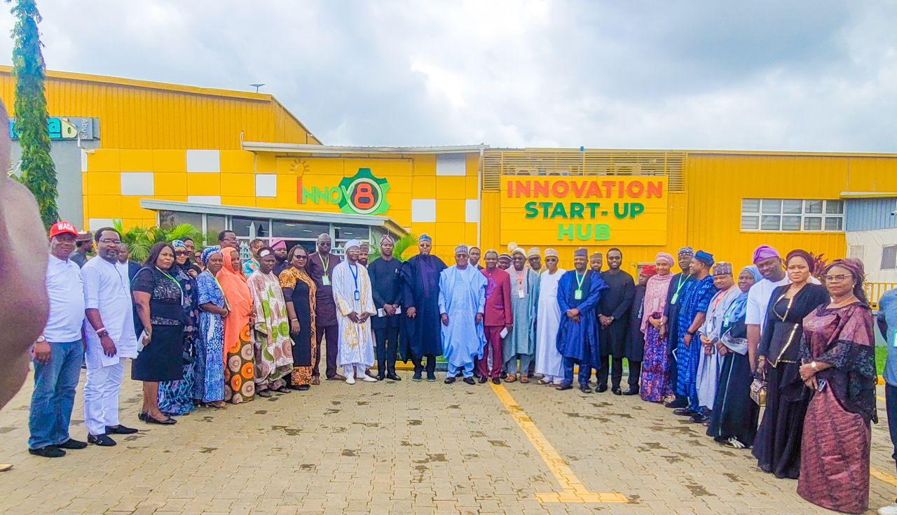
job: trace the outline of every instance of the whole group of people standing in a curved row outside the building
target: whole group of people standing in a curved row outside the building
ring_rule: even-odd
[[[503,379],[565,391],[575,379],[590,393],[594,370],[597,393],[663,402],[716,441],[753,448],[762,470],[799,478],[807,500],[867,509],[875,339],[857,260],[816,270],[810,253],[783,260],[764,245],[737,270],[684,247],[658,253],[633,279],[616,248],[576,250],[573,270],[563,270],[553,249],[457,245],[448,266],[431,254],[430,236],[404,262],[383,236],[368,262],[366,244],[346,242],[341,258],[323,234],[310,255],[282,240],[250,242],[242,262],[237,237],[222,231],[200,252],[193,242],[156,244],[137,265],[104,227],[93,235],[97,256],[79,268],[74,227],[60,222],[49,236],[33,454],[86,445],[68,434],[83,359],[88,442],[112,446],[111,435],[136,431],[118,420],[128,358],[144,384],[140,420],[172,425],[200,405],[309,390],[320,381],[323,341],[327,380],[350,384],[400,381],[399,354],[414,381],[435,381],[443,356],[449,384]]]

